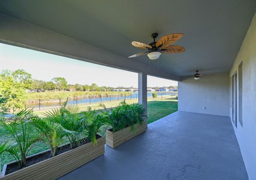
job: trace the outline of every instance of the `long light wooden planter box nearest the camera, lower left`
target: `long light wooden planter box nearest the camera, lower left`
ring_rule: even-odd
[[[86,143],[50,159],[7,174],[6,176],[0,177],[0,179],[57,179],[103,155],[104,152],[105,141],[101,137],[97,139],[97,145],[93,146],[91,142]]]

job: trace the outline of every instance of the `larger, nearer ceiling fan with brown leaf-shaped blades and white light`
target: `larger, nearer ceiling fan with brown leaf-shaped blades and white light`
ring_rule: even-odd
[[[142,42],[132,41],[133,46],[141,49],[147,49],[147,52],[134,54],[132,56],[129,56],[129,58],[138,57],[138,56],[147,54],[149,59],[154,60],[154,59],[158,59],[162,53],[185,52],[184,47],[178,46],[178,45],[171,45],[177,40],[179,40],[180,38],[182,38],[183,36],[182,33],[174,33],[174,34],[166,35],[156,41],[157,36],[158,36],[158,33],[153,33],[151,35],[154,41],[151,42],[149,45]]]

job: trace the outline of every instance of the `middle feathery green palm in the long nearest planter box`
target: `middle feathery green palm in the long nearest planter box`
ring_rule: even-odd
[[[37,130],[44,136],[44,141],[49,144],[51,155],[57,155],[59,145],[64,143],[67,137],[70,148],[77,147],[83,140],[83,126],[79,115],[79,108],[75,105],[67,105],[67,101],[61,108],[53,108],[44,113],[44,118],[36,116],[33,123]]]

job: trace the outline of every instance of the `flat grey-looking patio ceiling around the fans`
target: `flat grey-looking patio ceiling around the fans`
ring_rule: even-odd
[[[229,71],[255,11],[255,0],[0,1],[0,13],[124,57],[143,52],[132,40],[149,44],[153,32],[181,32],[175,44],[186,52],[152,63],[178,76]],[[149,64],[146,55],[134,60]]]

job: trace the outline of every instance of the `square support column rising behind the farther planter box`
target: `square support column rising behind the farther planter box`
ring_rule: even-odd
[[[147,74],[138,73],[138,97],[139,104],[142,104],[146,109],[145,115],[147,116]],[[147,118],[145,118],[147,124]]]

